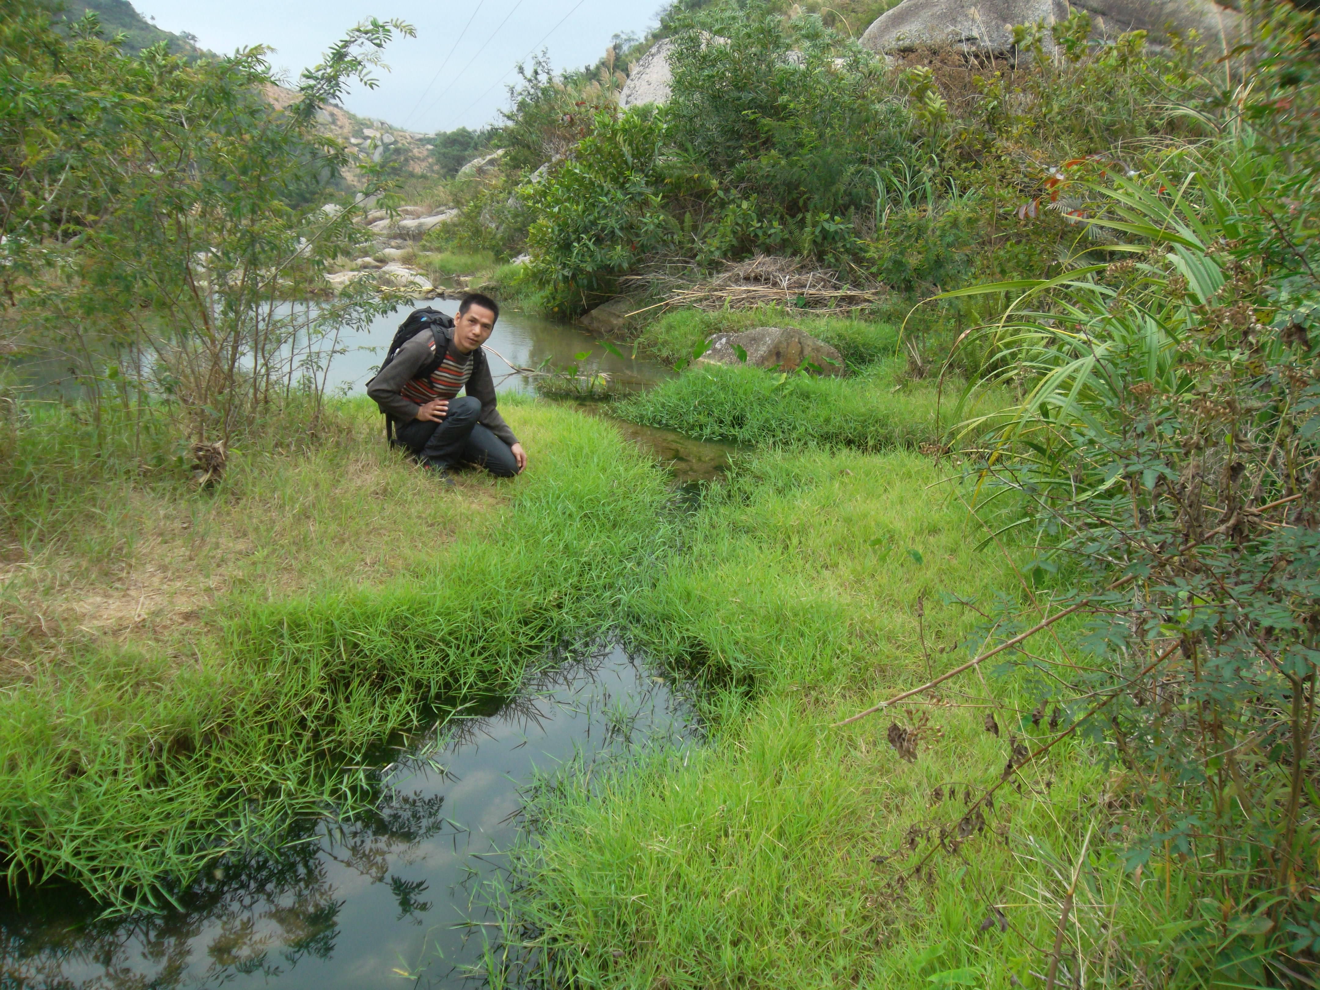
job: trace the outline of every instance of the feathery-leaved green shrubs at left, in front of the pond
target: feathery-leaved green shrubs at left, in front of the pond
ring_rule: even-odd
[[[393,306],[366,285],[317,312],[280,304],[321,294],[362,236],[352,210],[317,209],[348,161],[317,111],[351,81],[374,84],[384,45],[412,29],[352,29],[281,111],[261,95],[264,49],[127,57],[91,15],[66,38],[45,8],[20,7],[28,48],[9,36],[0,71],[0,318],[67,354],[94,404],[127,379],[141,411],[228,441],[290,379],[321,380],[297,367],[294,338],[334,350],[342,327]]]

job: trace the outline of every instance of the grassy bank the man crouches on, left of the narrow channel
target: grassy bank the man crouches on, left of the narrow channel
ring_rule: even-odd
[[[173,630],[94,635],[73,626],[77,609],[63,630],[54,619],[40,627],[61,648],[7,671],[0,696],[11,879],[58,874],[111,904],[158,900],[227,849],[277,840],[292,816],[351,803],[362,781],[345,767],[411,727],[422,704],[513,689],[549,642],[606,628],[611,589],[653,552],[663,477],[601,420],[525,403],[508,417],[535,470],[507,484],[475,478],[440,491],[380,451],[372,429],[354,434],[360,441],[240,457],[213,494],[166,482],[141,491],[127,479],[99,492],[117,503],[96,520],[111,560],[84,561],[84,587],[141,562],[147,549],[125,531],[153,513],[186,511],[219,531],[220,549],[234,502],[246,503],[244,516],[273,512],[285,525],[267,531],[275,546],[252,548],[251,568],[199,618]],[[41,436],[53,432],[24,430],[20,445]],[[371,445],[358,478],[343,471],[355,442]],[[77,474],[63,480],[67,502],[87,502]],[[11,488],[21,482],[9,477]],[[306,503],[325,516],[304,515]],[[356,532],[374,539],[356,543],[337,517],[362,520]],[[25,570],[75,579],[81,572],[61,572],[61,561],[83,560],[71,532],[87,519],[20,532]],[[318,523],[321,539],[301,545],[297,531]],[[11,528],[34,524],[9,516]],[[300,582],[294,566],[281,581],[286,572],[271,560],[281,540],[317,573]],[[206,558],[205,546],[197,552]],[[376,553],[397,561],[392,576],[372,564]],[[5,594],[9,615],[30,615],[17,591],[7,585]]]

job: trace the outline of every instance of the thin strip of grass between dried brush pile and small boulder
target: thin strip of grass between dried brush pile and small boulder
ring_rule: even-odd
[[[832,345],[851,367],[883,362],[894,356],[898,330],[883,322],[793,313],[775,306],[708,313],[701,309],[669,310],[643,327],[638,335],[640,351],[664,362],[692,358],[692,351],[717,333],[742,333],[756,326],[793,326]]]

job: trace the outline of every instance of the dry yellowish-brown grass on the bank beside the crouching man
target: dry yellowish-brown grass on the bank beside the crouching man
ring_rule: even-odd
[[[384,450],[376,426],[292,454],[240,451],[211,492],[185,484],[99,492],[114,511],[88,516],[102,531],[81,539],[28,553],[7,541],[0,684],[90,642],[131,647],[206,635],[231,597],[420,573],[455,536],[498,524],[507,487],[467,474],[441,491]]]

